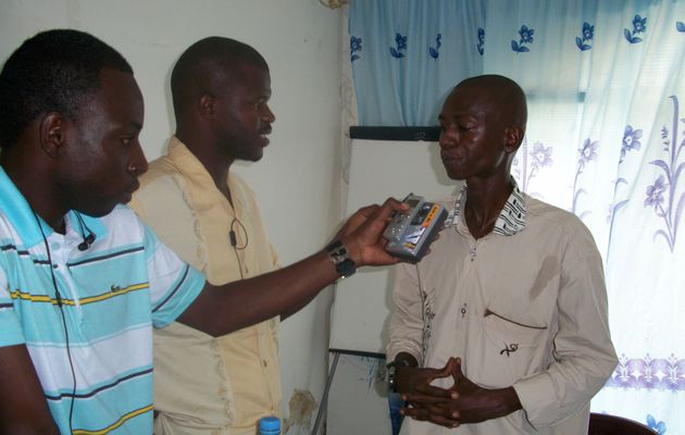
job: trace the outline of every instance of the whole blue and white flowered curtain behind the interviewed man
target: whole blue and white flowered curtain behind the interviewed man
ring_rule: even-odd
[[[462,78],[528,97],[512,172],[574,212],[605,261],[620,363],[593,399],[685,434],[685,0],[357,0],[350,62],[360,125],[436,125]]]

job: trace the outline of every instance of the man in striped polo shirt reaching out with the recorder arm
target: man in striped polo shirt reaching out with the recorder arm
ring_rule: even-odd
[[[397,262],[395,210],[360,210],[328,248],[221,287],[121,203],[147,171],[124,58],[76,30],[26,40],[0,73],[0,433],[150,434],[152,327],[224,335],[299,307],[354,266]]]

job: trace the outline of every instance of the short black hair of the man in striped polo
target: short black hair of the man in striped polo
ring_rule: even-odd
[[[53,29],[25,40],[0,73],[0,146],[13,146],[41,113],[73,117],[100,89],[104,67],[133,74],[121,53],[84,32]]]

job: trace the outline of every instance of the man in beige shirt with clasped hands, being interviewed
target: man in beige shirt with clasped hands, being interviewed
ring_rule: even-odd
[[[440,157],[466,184],[419,264],[396,268],[389,370],[401,434],[584,434],[616,365],[602,261],[580,219],[510,174],[526,102],[509,78],[468,78],[439,115]]]

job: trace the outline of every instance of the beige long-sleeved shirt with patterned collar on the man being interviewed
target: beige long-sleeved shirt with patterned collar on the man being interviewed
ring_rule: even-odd
[[[443,368],[460,357],[476,384],[513,386],[523,410],[456,430],[406,418],[401,434],[587,433],[589,400],[618,363],[593,236],[575,215],[514,188],[496,228],[476,240],[465,195],[446,203],[453,224],[431,254],[395,270],[388,360],[409,352]]]

